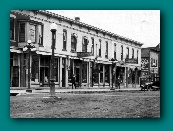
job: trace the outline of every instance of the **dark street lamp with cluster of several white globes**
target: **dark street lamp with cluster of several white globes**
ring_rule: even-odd
[[[28,89],[26,90],[26,92],[32,92],[30,88],[30,55],[31,55],[31,49],[35,48],[35,46],[31,45],[31,40],[28,40],[27,43],[28,44],[24,47],[24,50],[28,49]]]

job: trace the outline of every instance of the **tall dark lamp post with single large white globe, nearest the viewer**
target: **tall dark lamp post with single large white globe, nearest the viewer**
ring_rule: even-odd
[[[50,95],[55,96],[55,76],[54,76],[54,49],[56,41],[57,25],[52,23],[50,25],[50,31],[52,32],[52,56],[51,56],[51,78],[50,78]]]

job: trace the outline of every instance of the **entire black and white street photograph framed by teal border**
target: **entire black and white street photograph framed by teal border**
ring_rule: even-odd
[[[160,10],[10,10],[10,118],[160,118]]]

